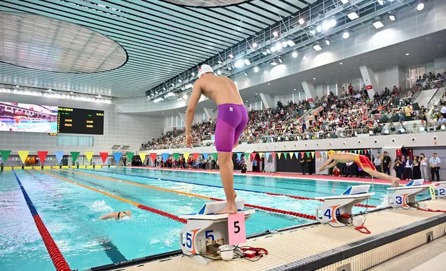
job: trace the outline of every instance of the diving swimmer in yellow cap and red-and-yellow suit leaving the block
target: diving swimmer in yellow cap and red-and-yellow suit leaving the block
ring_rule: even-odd
[[[375,166],[367,158],[367,156],[362,156],[355,153],[336,153],[334,151],[328,151],[328,160],[325,161],[317,171],[321,172],[324,169],[330,169],[330,167],[334,167],[335,165],[337,165],[338,162],[355,162],[358,167],[366,171],[368,174],[370,174],[370,176],[389,180],[392,183],[392,187],[398,187],[400,185],[399,178],[376,171]]]

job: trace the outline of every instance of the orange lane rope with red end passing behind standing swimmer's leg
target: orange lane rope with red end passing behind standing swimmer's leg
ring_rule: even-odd
[[[73,170],[66,170],[66,169],[57,169],[57,170],[71,172],[73,174],[80,174],[80,175],[84,175],[84,176],[89,176],[89,177],[92,177],[92,178],[100,178],[100,179],[103,179],[103,180],[111,180],[111,181],[118,182],[118,183],[127,183],[129,185],[136,185],[136,186],[139,186],[139,187],[146,187],[146,188],[150,188],[150,189],[156,189],[156,190],[160,190],[160,191],[166,191],[166,192],[181,194],[181,195],[185,195],[185,196],[193,196],[193,197],[196,197],[196,198],[204,198],[206,200],[223,201],[221,198],[212,198],[212,197],[209,197],[209,196],[202,196],[202,195],[188,193],[188,192],[183,192],[183,191],[177,191],[177,190],[161,188],[161,187],[154,187],[152,185],[143,185],[141,183],[134,183],[134,182],[131,182],[131,181],[128,181],[128,180],[119,180],[119,179],[108,178],[108,177],[98,176],[98,175],[93,175],[93,174],[86,174],[86,173],[83,173],[83,172],[76,172],[76,171],[73,171]],[[307,218],[307,219],[316,220],[316,216],[312,216],[310,214],[303,214],[303,213],[299,213],[299,212],[286,211],[286,210],[283,210],[283,209],[270,208],[270,207],[265,207],[265,206],[260,206],[260,205],[253,205],[253,204],[248,204],[248,203],[245,203],[244,206],[249,207],[249,208],[254,208],[254,209],[261,209],[261,210],[264,210],[264,211],[267,211],[267,212],[274,212],[274,213],[278,213],[278,214],[288,214],[290,216],[298,216],[298,217],[301,217],[301,218]]]

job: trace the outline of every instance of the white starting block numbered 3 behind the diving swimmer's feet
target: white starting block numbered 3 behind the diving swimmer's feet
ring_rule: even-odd
[[[418,202],[416,200],[416,195],[423,191],[429,190],[431,185],[423,185],[425,180],[411,180],[410,183],[404,185],[404,187],[391,187],[387,190],[393,191],[393,194],[389,194],[389,205],[392,208],[402,207],[404,209],[409,209],[411,207],[416,208]]]

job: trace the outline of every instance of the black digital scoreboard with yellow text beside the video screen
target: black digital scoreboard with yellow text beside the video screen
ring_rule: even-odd
[[[104,111],[59,107],[57,133],[104,134]]]

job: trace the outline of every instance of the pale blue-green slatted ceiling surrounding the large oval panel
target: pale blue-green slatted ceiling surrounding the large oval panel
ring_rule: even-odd
[[[236,6],[190,8],[157,0],[2,0],[2,11],[42,15],[109,37],[123,46],[129,58],[114,71],[80,75],[2,63],[0,83],[113,97],[143,96],[315,1],[253,0]]]

